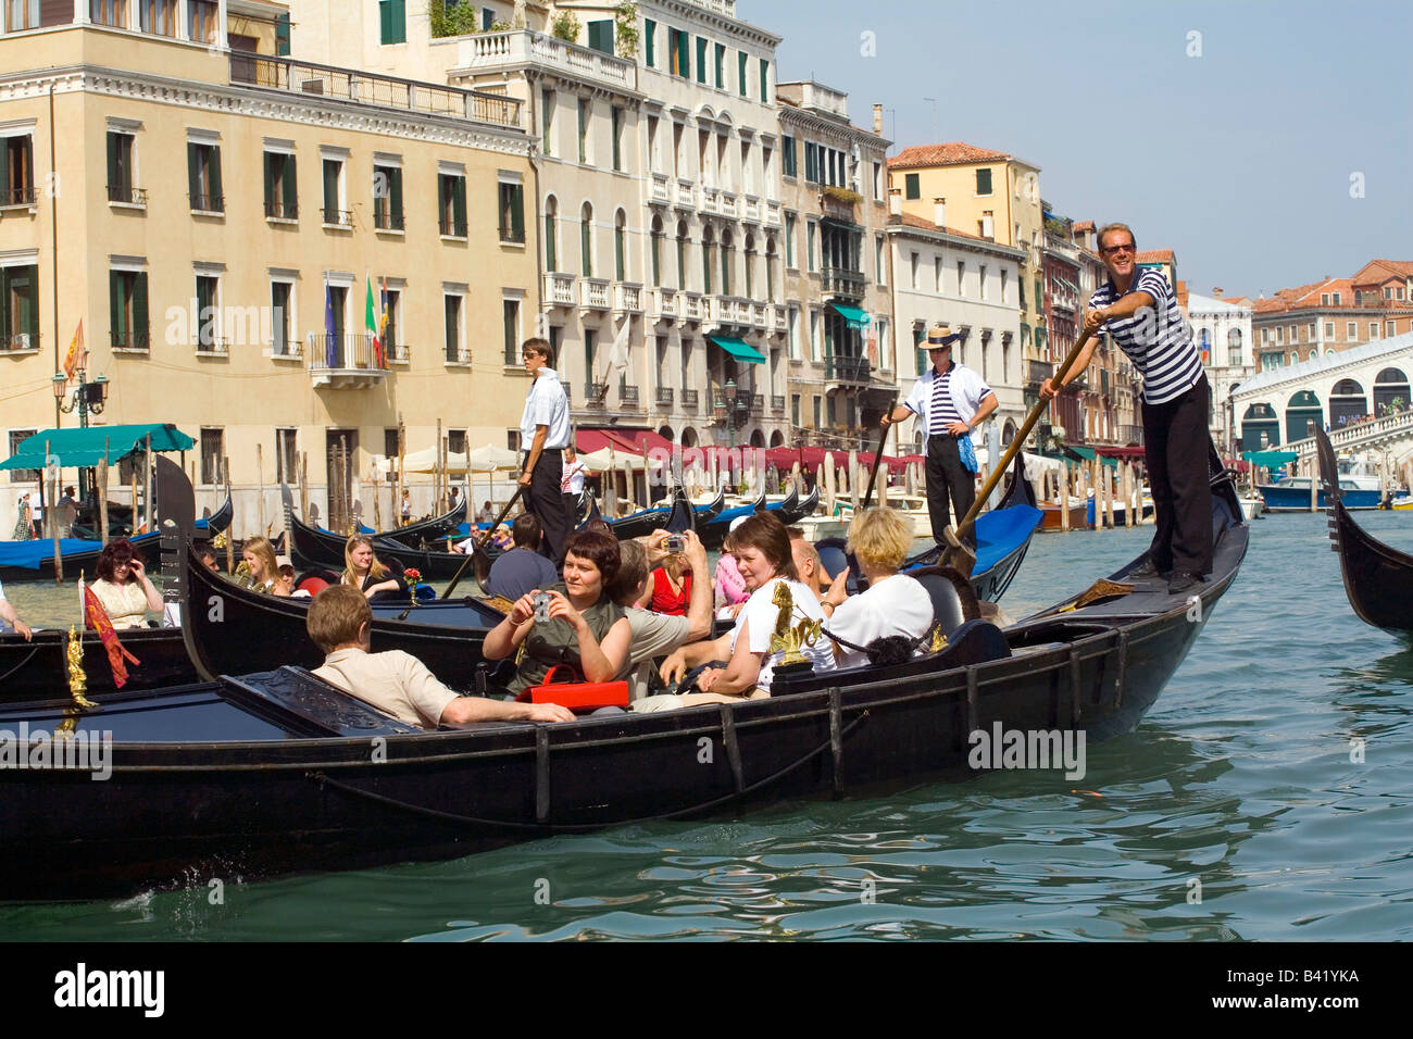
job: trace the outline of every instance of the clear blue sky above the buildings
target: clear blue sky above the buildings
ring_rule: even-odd
[[[1057,212],[1132,223],[1140,249],[1177,252],[1193,291],[1255,298],[1413,259],[1406,1],[738,0],[736,13],[784,37],[781,79],[846,90],[858,126],[880,102],[890,155],[962,140],[1036,163]],[[865,33],[876,57],[861,54]]]

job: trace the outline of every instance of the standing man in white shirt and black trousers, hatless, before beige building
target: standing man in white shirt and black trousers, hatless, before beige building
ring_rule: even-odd
[[[520,486],[526,489],[526,509],[536,515],[544,532],[540,554],[558,567],[564,564],[564,539],[571,526],[560,492],[564,450],[569,447],[569,397],[552,368],[554,348],[548,339],[526,339],[520,356],[534,379],[520,418],[520,442],[526,445]]]

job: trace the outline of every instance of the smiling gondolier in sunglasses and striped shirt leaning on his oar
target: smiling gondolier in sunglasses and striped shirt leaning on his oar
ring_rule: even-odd
[[[1211,387],[1193,329],[1161,271],[1139,269],[1126,223],[1099,230],[1099,257],[1109,280],[1089,297],[1084,331],[1109,332],[1143,375],[1143,452],[1153,489],[1157,530],[1147,560],[1129,575],[1170,574],[1171,594],[1198,587],[1212,571],[1212,492],[1207,455]],[[1089,365],[1098,341],[1080,352],[1065,373],[1072,382]],[[1047,379],[1040,396],[1057,387]]]

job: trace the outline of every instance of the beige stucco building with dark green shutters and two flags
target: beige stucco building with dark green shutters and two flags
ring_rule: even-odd
[[[85,23],[95,13],[109,24]],[[82,0],[0,37],[18,171],[0,264],[7,314],[32,325],[0,356],[0,425],[13,442],[55,424],[51,377],[82,321],[85,375],[109,385],[92,421],[196,437],[198,507],[223,498],[229,459],[237,536],[261,513],[278,529],[270,488],[302,457],[325,517],[360,502],[372,522],[367,478],[398,420],[408,451],[432,445],[438,420],[452,448],[504,445],[526,389],[506,360],[540,305],[520,102],[277,57],[284,13]],[[365,331],[369,284],[379,315],[387,290],[386,360]],[[380,506],[386,523],[386,485]],[[434,507],[425,488],[414,506]]]

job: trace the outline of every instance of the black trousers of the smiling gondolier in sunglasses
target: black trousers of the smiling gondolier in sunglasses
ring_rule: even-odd
[[[1180,397],[1143,404],[1143,454],[1157,520],[1149,551],[1159,571],[1212,573],[1211,393],[1204,375]]]

